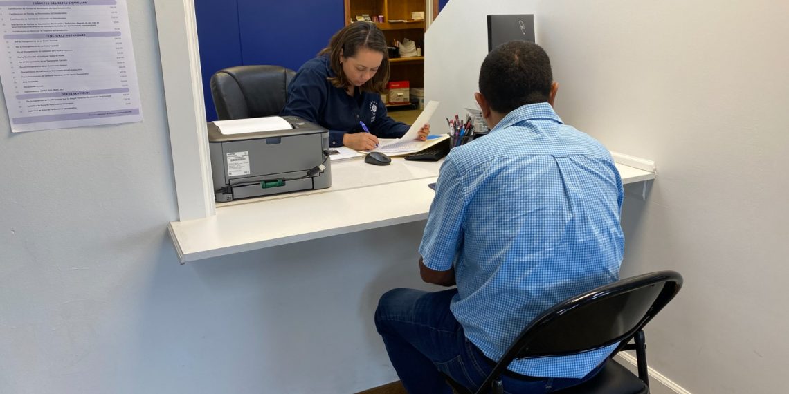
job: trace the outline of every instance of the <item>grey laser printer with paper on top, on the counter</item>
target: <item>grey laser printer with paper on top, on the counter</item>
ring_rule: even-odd
[[[331,186],[329,132],[299,117],[208,123],[217,203]]]

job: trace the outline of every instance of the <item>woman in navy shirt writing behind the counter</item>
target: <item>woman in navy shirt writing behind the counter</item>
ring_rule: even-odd
[[[282,115],[293,115],[329,130],[329,146],[369,151],[378,138],[400,138],[409,126],[394,121],[380,93],[389,80],[383,32],[356,22],[342,28],[317,58],[307,61],[288,86]],[[430,125],[419,131],[424,140]]]

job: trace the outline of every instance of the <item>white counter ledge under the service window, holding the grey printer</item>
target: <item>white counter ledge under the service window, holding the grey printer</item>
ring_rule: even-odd
[[[331,188],[220,203],[216,215],[168,226],[181,263],[399,225],[428,217],[441,162],[331,164]],[[624,184],[655,173],[616,163]]]

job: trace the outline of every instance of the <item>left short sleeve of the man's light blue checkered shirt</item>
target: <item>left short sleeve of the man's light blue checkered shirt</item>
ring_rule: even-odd
[[[436,271],[452,268],[463,241],[466,214],[465,183],[450,158],[441,165],[436,183],[436,198],[430,205],[419,253],[424,266]]]

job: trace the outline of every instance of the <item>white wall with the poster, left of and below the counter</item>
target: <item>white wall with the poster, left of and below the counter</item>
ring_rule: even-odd
[[[144,122],[12,134],[0,110],[0,392],[396,380],[372,311],[386,290],[419,285],[424,221],[178,265],[154,7],[128,6]]]

